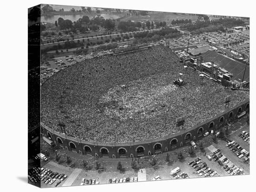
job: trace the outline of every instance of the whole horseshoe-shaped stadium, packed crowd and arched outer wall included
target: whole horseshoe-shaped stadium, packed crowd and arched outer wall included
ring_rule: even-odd
[[[248,111],[248,91],[202,78],[163,45],[88,59],[41,86],[46,140],[101,157],[170,151]]]

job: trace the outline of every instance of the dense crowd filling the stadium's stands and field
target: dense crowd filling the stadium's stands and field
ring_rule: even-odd
[[[183,75],[180,75],[182,73]],[[184,86],[173,81],[181,77]],[[87,141],[142,141],[179,131],[176,119],[190,128],[249,98],[194,70],[186,70],[162,45],[105,55],[70,66],[41,87],[41,120],[67,136]]]

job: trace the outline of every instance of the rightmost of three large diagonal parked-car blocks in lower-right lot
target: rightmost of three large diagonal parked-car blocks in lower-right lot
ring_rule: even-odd
[[[238,142],[235,141],[230,141],[228,142],[228,144],[226,145],[226,147],[228,147],[239,159],[243,159],[244,162],[249,161],[249,151],[246,151],[245,149],[243,149],[241,147],[241,145],[239,145]]]

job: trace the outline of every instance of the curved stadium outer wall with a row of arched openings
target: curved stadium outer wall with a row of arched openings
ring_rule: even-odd
[[[244,111],[249,112],[249,100],[241,102],[233,108],[229,108],[223,113],[192,128],[182,130],[176,134],[146,141],[129,141],[125,143],[84,141],[79,138],[67,137],[65,134],[61,134],[54,131],[52,128],[48,128],[43,123],[41,123],[41,134],[50,137],[55,145],[79,154],[100,157],[106,156],[109,158],[139,157],[171,151],[175,148],[189,145],[189,141],[200,140],[205,132],[211,131],[212,129],[216,130],[224,123],[234,121],[238,118],[237,116]],[[201,130],[202,133],[200,133]],[[190,137],[188,135],[190,135]],[[186,136],[188,136],[187,139],[185,139]]]

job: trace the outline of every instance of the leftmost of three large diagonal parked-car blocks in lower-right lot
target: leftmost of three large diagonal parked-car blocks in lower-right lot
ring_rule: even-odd
[[[189,165],[195,169],[200,177],[213,177],[217,174],[216,171],[207,166],[206,162],[202,162],[200,157],[193,161],[189,161]]]

